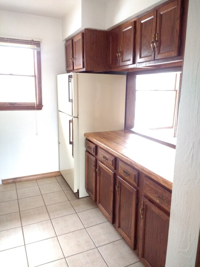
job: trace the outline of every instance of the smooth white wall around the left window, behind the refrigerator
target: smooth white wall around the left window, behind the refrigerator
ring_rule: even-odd
[[[0,12],[0,35],[42,40],[42,100],[37,111],[0,111],[0,179],[58,171],[56,75],[65,72],[61,20]]]

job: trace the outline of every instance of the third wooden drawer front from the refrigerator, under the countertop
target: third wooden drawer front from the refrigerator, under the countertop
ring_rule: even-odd
[[[138,186],[138,171],[119,160],[119,175],[130,184]]]

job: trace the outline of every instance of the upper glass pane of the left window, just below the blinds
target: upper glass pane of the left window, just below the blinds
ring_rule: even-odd
[[[0,73],[34,75],[34,51],[21,47],[0,46]]]

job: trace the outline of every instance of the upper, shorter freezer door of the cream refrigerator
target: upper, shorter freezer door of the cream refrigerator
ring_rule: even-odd
[[[58,110],[74,116],[72,74],[57,75]]]

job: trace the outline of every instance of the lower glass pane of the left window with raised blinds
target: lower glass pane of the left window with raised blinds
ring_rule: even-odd
[[[0,75],[0,102],[35,102],[34,77]]]

